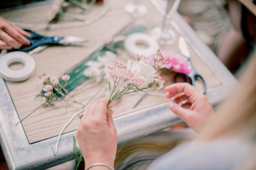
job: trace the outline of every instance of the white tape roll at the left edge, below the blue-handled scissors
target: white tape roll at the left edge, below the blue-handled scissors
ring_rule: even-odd
[[[24,67],[20,70],[11,70],[11,63],[22,63]],[[35,69],[35,60],[25,52],[10,52],[0,58],[0,76],[7,81],[25,81]]]

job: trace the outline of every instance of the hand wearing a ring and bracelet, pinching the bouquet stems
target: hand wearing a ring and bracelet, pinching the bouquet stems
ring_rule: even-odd
[[[107,105],[107,98],[91,103],[84,113],[86,114],[85,118],[80,120],[76,139],[86,168],[93,163],[106,163],[114,167],[117,152],[117,129],[112,118],[113,111],[107,108]],[[112,104],[110,103],[110,105]],[[95,169],[98,168],[104,169],[103,166],[95,166]]]

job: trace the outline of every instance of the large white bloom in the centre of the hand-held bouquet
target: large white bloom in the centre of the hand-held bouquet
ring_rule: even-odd
[[[127,69],[130,70],[134,76],[144,80],[144,83],[138,86],[139,89],[146,88],[151,82],[155,81],[155,68],[145,63],[144,60],[135,62],[128,60]]]

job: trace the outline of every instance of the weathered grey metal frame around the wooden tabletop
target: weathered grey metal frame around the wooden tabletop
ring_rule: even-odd
[[[222,85],[207,89],[211,104],[216,104],[237,85],[237,80],[219,61],[216,55],[195,34],[192,28],[176,13],[173,26],[187,37],[186,40],[201,59],[218,76]],[[72,155],[72,136],[75,131],[61,136],[58,154],[54,156],[56,137],[29,144],[22,124],[16,123],[19,117],[9,94],[6,83],[0,78],[0,144],[10,170],[46,169],[74,159]],[[115,118],[118,144],[136,137],[148,135],[180,122],[166,107],[166,103],[135,113]]]

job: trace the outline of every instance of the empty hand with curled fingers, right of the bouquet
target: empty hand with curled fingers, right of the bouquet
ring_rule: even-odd
[[[189,83],[175,83],[164,90],[167,92],[167,98],[178,94],[173,102],[168,103],[168,108],[197,133],[202,130],[209,118],[215,115],[207,96]],[[184,100],[187,100],[185,104],[178,105]]]

